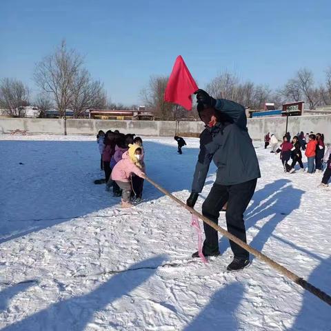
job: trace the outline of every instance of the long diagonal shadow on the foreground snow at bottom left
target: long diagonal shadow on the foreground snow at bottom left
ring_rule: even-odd
[[[132,290],[152,277],[164,260],[165,257],[159,255],[131,265],[127,271],[114,275],[88,294],[52,303],[48,308],[1,330],[85,330],[86,325],[92,321],[94,312],[103,310],[106,305],[124,295],[130,295]],[[140,268],[141,270],[137,270]],[[112,321],[108,323],[113,328],[124,326],[115,325]]]

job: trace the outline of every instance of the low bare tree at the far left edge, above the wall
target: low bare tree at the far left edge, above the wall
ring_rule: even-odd
[[[17,79],[5,78],[0,81],[0,104],[10,117],[24,117],[23,107],[29,105],[30,90]]]

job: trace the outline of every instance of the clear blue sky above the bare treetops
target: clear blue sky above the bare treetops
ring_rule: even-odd
[[[330,0],[1,0],[0,78],[32,91],[34,65],[66,39],[113,102],[141,103],[150,75],[181,54],[203,88],[217,73],[279,88],[331,66]]]

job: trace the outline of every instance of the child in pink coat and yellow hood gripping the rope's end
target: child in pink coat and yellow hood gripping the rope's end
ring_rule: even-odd
[[[140,157],[140,146],[130,144],[128,152],[123,154],[121,161],[117,162],[112,170],[112,180],[116,181],[122,190],[122,208],[132,207],[130,203],[132,190],[131,173],[141,178],[146,177],[141,170],[141,164],[139,163]]]

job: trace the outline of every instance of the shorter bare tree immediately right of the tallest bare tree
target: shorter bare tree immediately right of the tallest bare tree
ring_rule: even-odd
[[[70,108],[74,118],[79,118],[89,108],[106,108],[107,96],[100,81],[92,81],[90,73],[81,69],[70,83]]]

